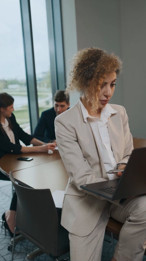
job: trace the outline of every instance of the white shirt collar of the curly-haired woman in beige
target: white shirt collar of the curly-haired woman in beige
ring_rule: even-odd
[[[81,99],[81,97],[80,97],[80,99]],[[79,103],[80,103],[80,106],[81,106],[81,112],[83,114],[84,122],[87,122],[87,118],[98,120],[99,119],[98,117],[94,117],[94,116],[91,116],[91,115],[88,114],[87,109],[85,108],[85,106],[83,105],[83,103],[81,102],[80,99],[79,99]],[[107,104],[101,110],[100,120],[102,120],[102,122],[105,124],[108,121],[108,118],[114,113],[117,113],[117,111],[114,110],[109,104]]]

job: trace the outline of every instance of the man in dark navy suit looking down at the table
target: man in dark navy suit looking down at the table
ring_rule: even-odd
[[[69,97],[65,96],[65,91],[63,90],[58,90],[55,93],[53,101],[53,107],[42,112],[33,135],[34,138],[46,143],[56,139],[54,129],[55,117],[69,108]]]

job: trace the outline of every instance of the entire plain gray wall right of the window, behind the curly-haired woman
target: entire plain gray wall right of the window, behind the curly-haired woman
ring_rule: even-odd
[[[133,137],[146,138],[146,1],[62,0],[61,4],[66,76],[68,60],[80,48],[98,47],[119,55],[124,72],[111,102],[126,108]]]

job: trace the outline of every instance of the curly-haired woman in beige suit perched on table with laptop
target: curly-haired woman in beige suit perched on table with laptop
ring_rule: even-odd
[[[69,231],[71,261],[101,260],[109,217],[124,223],[112,261],[140,261],[145,251],[145,195],[111,203],[80,188],[121,176],[133,150],[126,110],[109,104],[121,66],[119,57],[104,50],[79,50],[66,94],[82,95],[55,118],[58,149],[69,176],[61,224]],[[111,169],[119,169],[117,176],[108,174]]]

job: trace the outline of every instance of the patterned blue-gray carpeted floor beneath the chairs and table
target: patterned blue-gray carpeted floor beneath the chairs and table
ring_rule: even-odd
[[[12,197],[12,185],[10,181],[1,181],[0,180],[0,219],[1,215],[9,209],[10,202]],[[106,239],[110,240],[110,237],[105,236]],[[11,251],[8,251],[8,245],[11,238],[7,232],[5,235],[4,227],[1,228],[0,223],[0,261],[11,261]],[[115,245],[117,241],[114,241]],[[15,246],[14,260],[23,261],[25,260],[26,255],[29,252],[35,250],[36,247],[32,245],[28,240],[20,241]],[[64,258],[69,256],[69,253]],[[60,257],[62,259],[63,257]],[[112,246],[109,243],[104,242],[102,250],[102,259],[101,261],[110,261],[112,258]],[[52,261],[47,255],[41,255],[36,257],[34,261]],[[96,261],[96,260],[95,260]],[[146,256],[144,256],[143,261],[146,261]]]

